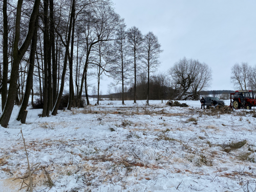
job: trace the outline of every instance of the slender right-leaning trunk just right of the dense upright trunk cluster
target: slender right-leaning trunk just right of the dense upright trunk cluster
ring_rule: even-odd
[[[73,14],[74,13],[75,13],[75,0],[72,1],[71,19],[70,19],[70,24],[69,24],[69,32],[68,32],[68,40],[67,40],[67,44],[66,44],[66,52],[65,52],[64,64],[63,64],[63,72],[62,72],[62,76],[61,76],[61,84],[60,84],[58,98],[56,100],[56,103],[54,105],[54,109],[52,111],[52,115],[57,115],[60,100],[61,100],[63,89],[64,89],[65,74],[66,74],[66,70],[67,70],[70,36],[71,36],[71,29],[72,29],[72,22],[73,22]]]

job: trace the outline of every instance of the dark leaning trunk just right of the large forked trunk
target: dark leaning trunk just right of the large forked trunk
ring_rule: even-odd
[[[27,75],[26,90],[22,100],[22,105],[20,105],[19,107],[19,112],[16,118],[17,121],[20,121],[20,119],[22,119],[23,113],[28,106],[30,91],[31,89],[33,89],[32,87],[33,87],[33,73],[34,73],[34,65],[35,65],[35,52],[36,52],[36,44],[37,44],[37,29],[38,29],[38,16],[36,17],[34,34],[31,42],[31,50],[30,50],[30,56],[29,56],[30,65],[29,65],[29,71]]]

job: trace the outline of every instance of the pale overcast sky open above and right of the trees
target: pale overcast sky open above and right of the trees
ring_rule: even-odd
[[[255,0],[113,0],[127,28],[152,31],[164,52],[159,71],[184,56],[212,69],[208,90],[233,90],[230,69],[236,62],[256,65]],[[103,81],[101,89],[106,93]]]

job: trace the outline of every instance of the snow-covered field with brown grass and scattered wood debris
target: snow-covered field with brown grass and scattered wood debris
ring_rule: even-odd
[[[28,108],[26,124],[15,121],[15,106],[8,128],[0,127],[0,191],[22,185],[20,128],[37,166],[34,191],[255,191],[253,110],[222,114],[185,102],[101,101],[45,118]]]

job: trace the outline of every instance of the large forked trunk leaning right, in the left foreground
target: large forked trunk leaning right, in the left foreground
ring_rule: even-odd
[[[35,20],[36,20],[38,9],[39,9],[40,0],[35,0],[34,2],[34,7],[29,20],[27,36],[22,46],[18,48],[22,4],[23,4],[23,0],[18,0],[17,9],[16,9],[15,37],[14,37],[14,43],[13,43],[13,63],[12,63],[12,70],[11,70],[11,77],[10,77],[10,87],[9,87],[8,97],[6,100],[5,109],[0,117],[0,124],[3,127],[8,126],[8,123],[12,114],[15,97],[17,95],[18,66],[19,66],[19,62],[22,60],[22,57],[24,56],[24,54],[26,53],[30,45],[33,32],[34,32],[34,25],[35,25]]]

